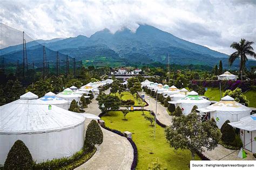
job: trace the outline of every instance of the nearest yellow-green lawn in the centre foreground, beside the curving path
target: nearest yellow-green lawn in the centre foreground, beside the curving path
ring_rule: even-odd
[[[145,111],[149,115],[148,111]],[[151,162],[156,162],[157,158],[161,168],[168,169],[188,169],[191,152],[188,150],[174,150],[167,143],[164,128],[156,126],[156,140],[154,140],[154,127],[142,116],[142,111],[129,112],[126,115],[127,121],[123,120],[121,111],[110,111],[102,119],[107,127],[119,131],[132,132],[132,139],[138,148],[137,169],[147,169]],[[200,158],[196,155],[196,160]]]

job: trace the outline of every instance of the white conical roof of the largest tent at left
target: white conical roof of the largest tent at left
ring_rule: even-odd
[[[26,98],[27,97],[27,98]],[[31,98],[33,97],[33,98]],[[82,124],[85,117],[38,100],[31,92],[0,107],[0,134],[32,134],[62,131]]]

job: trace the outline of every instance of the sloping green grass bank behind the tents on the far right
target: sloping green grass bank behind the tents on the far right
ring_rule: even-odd
[[[224,90],[221,90],[221,93],[223,95]],[[220,101],[220,91],[219,91],[219,88],[208,88],[208,90],[205,92],[204,95],[206,97],[209,97],[210,100]],[[256,100],[255,100],[256,91],[255,90],[247,91],[245,93],[245,96],[250,101],[249,107],[256,108]]]

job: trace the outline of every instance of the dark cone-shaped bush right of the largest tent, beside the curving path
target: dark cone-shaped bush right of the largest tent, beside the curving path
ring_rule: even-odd
[[[87,126],[85,134],[85,144],[89,148],[93,148],[96,144],[100,145],[103,142],[103,132],[100,129],[97,121],[92,120]]]

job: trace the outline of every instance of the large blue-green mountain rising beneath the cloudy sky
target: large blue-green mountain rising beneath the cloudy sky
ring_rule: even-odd
[[[228,67],[228,55],[180,39],[150,25],[140,25],[136,32],[124,28],[112,34],[104,29],[91,37],[80,35],[38,42],[53,51],[59,51],[77,60],[84,60],[88,64],[95,65],[106,61],[110,65],[112,63],[114,65],[124,63],[140,65],[156,61],[167,63],[168,54],[170,54],[170,63],[213,67],[219,63],[219,60],[223,60],[224,67]],[[33,43],[35,42],[29,42],[27,46],[29,49],[36,50],[37,46],[33,46]],[[14,47],[4,48],[3,51],[10,54],[11,48]],[[255,63],[255,61],[248,61],[248,65],[255,65]],[[238,66],[239,61],[235,61],[234,67]]]

